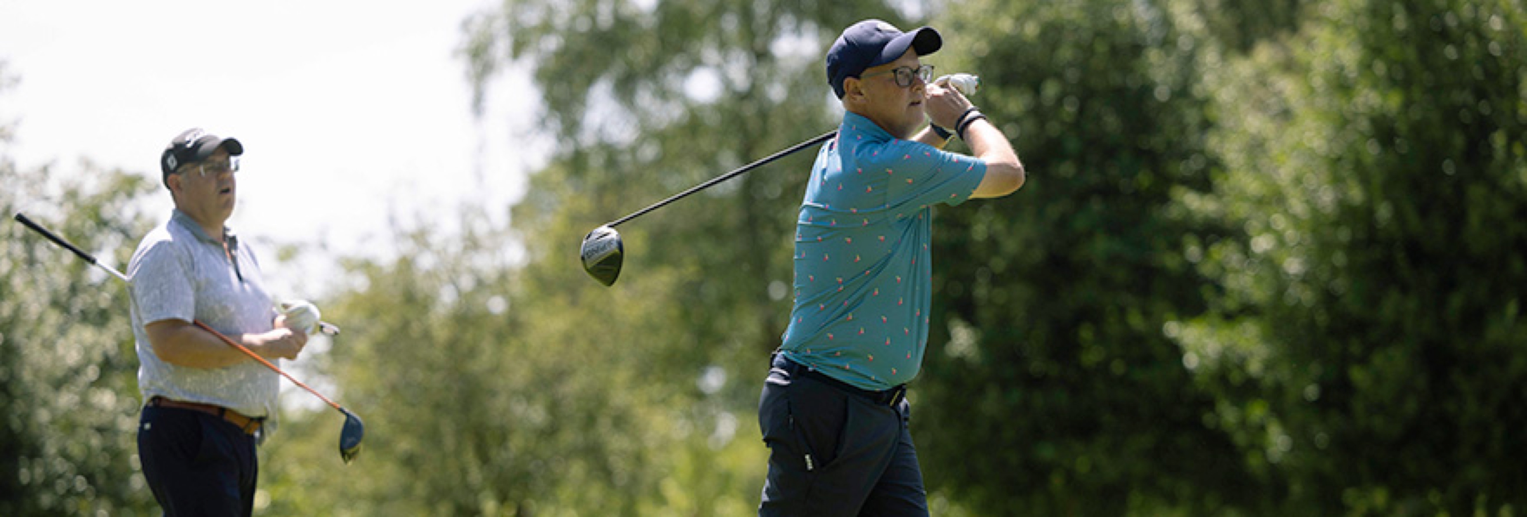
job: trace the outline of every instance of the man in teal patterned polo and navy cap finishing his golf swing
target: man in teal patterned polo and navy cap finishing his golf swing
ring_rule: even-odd
[[[828,49],[846,113],[796,221],[796,303],[759,400],[760,515],[928,514],[904,395],[928,337],[931,207],[1023,186],[1006,137],[928,84],[939,46],[866,20]],[[951,136],[976,156],[941,151]]]

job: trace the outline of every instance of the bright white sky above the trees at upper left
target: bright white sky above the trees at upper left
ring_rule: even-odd
[[[21,169],[70,174],[89,159],[157,183],[180,131],[237,137],[229,226],[339,255],[391,256],[397,218],[454,230],[463,201],[504,223],[545,153],[515,145],[536,116],[522,75],[472,117],[455,49],[461,21],[493,5],[0,0],[0,61],[20,78],[0,92],[0,122],[17,122],[8,153]],[[147,214],[168,218],[168,192],[153,203]]]

